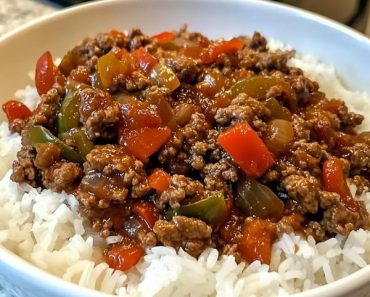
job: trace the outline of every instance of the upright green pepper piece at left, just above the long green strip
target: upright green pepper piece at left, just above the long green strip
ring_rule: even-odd
[[[58,113],[58,134],[77,128],[80,122],[80,98],[71,92],[65,96]]]

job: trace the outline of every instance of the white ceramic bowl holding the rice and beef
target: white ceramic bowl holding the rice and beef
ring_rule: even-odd
[[[31,81],[27,72],[45,50],[61,56],[86,36],[112,28],[142,28],[153,34],[178,29],[211,37],[260,31],[334,64],[352,89],[370,91],[370,41],[326,18],[265,1],[251,0],[126,0],[102,1],[67,9],[37,20],[0,38],[0,102]],[[0,120],[4,116],[0,115]],[[108,296],[49,275],[0,247],[0,283],[17,296]],[[370,266],[332,284],[297,297],[370,296]]]

